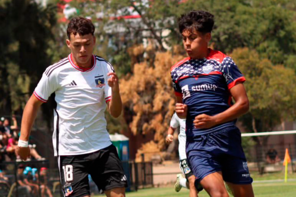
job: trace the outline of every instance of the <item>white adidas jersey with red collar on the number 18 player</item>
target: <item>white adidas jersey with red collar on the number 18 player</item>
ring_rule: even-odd
[[[110,63],[93,55],[93,66],[81,69],[73,64],[71,54],[49,66],[35,88],[42,102],[55,92],[54,155],[78,155],[110,146],[104,111],[111,100],[107,73]]]

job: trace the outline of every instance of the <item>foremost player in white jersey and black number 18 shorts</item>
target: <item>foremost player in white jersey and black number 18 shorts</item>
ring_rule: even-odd
[[[67,27],[71,53],[43,73],[23,116],[17,153],[30,155],[28,138],[37,110],[54,92],[54,155],[65,196],[88,197],[88,174],[106,196],[123,197],[126,176],[106,129],[104,111],[122,110],[118,76],[110,63],[92,54],[96,38],[89,19],[74,17]]]

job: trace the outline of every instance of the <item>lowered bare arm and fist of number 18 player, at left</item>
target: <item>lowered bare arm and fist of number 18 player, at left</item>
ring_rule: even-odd
[[[22,115],[22,127],[20,133],[21,141],[28,141],[31,133],[31,129],[34,123],[34,120],[37,115],[37,111],[40,108],[43,102],[38,100],[34,95],[28,100],[23,115]],[[19,142],[20,143],[20,142]],[[20,144],[17,146],[17,154],[21,159],[27,160],[30,157],[30,148],[29,147],[20,147]]]

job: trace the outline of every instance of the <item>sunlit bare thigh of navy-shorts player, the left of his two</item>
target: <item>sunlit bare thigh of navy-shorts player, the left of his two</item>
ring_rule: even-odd
[[[213,172],[211,174],[206,175],[201,181],[200,184],[207,191],[207,193],[214,196],[228,197],[228,193],[226,191],[222,172]]]

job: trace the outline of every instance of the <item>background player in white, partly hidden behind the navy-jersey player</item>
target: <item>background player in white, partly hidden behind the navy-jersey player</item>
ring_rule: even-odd
[[[185,175],[185,178],[183,178],[182,174],[177,175],[177,182],[175,184],[175,190],[176,192],[181,190],[181,187],[190,189],[189,196],[190,197],[197,197],[198,191],[202,191],[202,186],[200,184],[195,187],[195,176],[193,175],[192,171],[190,170],[187,162],[186,157],[186,119],[181,119],[178,117],[176,113],[174,113],[171,121],[170,121],[170,127],[168,128],[167,137],[165,139],[167,144],[170,144],[173,141],[173,134],[175,130],[179,128],[179,135],[178,135],[178,141],[179,141],[179,160],[180,160],[180,169],[181,172]]]

